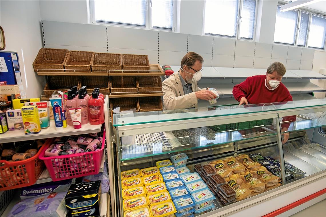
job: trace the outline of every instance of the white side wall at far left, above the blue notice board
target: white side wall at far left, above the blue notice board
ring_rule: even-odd
[[[0,25],[5,33],[5,51],[17,51],[22,83],[28,98],[40,97],[45,81],[33,69],[33,61],[42,48],[38,1],[1,1]]]

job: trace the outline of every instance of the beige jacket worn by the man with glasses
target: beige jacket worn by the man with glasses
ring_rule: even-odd
[[[197,97],[195,92],[200,91],[197,81],[191,85],[192,93],[186,94],[183,91],[178,72],[170,75],[162,83],[164,110],[197,108]]]

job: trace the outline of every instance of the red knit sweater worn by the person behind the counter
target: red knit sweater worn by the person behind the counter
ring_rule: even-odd
[[[255,75],[233,87],[233,96],[240,102],[245,97],[249,104],[268,103],[268,102],[288,102],[292,101],[289,90],[280,83],[274,90],[265,86],[266,75]],[[296,116],[284,117],[283,121],[295,121]],[[289,128],[289,123],[282,124],[282,128]]]

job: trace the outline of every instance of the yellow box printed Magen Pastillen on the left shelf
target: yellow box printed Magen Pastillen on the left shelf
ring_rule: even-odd
[[[41,131],[38,108],[34,106],[22,106],[22,124],[25,134],[36,134]]]

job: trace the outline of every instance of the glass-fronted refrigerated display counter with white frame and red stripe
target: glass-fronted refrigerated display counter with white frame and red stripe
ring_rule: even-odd
[[[116,114],[109,125],[115,192],[111,199],[117,216],[124,213],[123,171],[156,167],[158,161],[182,153],[188,157],[186,170],[197,172],[216,198],[213,208],[196,210],[195,215],[241,216],[251,211],[262,216],[325,190],[326,99]],[[229,165],[225,169],[230,174],[218,170],[220,162]],[[216,166],[215,171],[208,173],[203,165]],[[259,176],[261,171],[274,182]],[[233,189],[235,199],[221,196],[223,189],[213,185],[213,174],[220,174],[229,186],[236,182],[246,193],[238,187]],[[253,178],[248,181],[247,175]],[[325,197],[325,192],[318,195]]]

